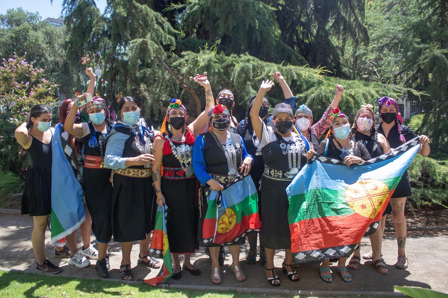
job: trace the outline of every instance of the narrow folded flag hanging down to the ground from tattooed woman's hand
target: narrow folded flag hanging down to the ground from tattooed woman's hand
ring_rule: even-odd
[[[157,206],[157,213],[155,214],[155,227],[148,251],[152,256],[162,257],[164,260],[164,265],[156,277],[140,280],[150,285],[157,285],[168,281],[172,275],[171,253],[169,250],[166,224],[167,209],[168,207],[166,205],[163,207]]]

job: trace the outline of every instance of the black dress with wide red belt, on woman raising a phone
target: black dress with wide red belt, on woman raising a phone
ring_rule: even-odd
[[[108,126],[108,124],[106,124]],[[96,131],[92,122],[89,122],[90,134],[82,138],[84,143],[84,154],[99,156],[104,158],[106,151],[105,138],[107,134]],[[108,127],[109,130],[109,127]],[[90,147],[89,141],[95,134],[97,146]],[[102,146],[102,152],[100,150]],[[112,184],[109,179],[111,169],[108,168],[89,168],[84,166],[82,181],[84,185],[84,195],[86,197],[87,208],[92,217],[92,230],[96,241],[100,243],[109,243],[112,238]]]

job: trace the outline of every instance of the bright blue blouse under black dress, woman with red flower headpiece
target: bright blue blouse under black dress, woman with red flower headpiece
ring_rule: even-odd
[[[241,156],[242,160],[244,160],[247,156],[250,156],[250,158],[252,158],[253,164],[254,158],[252,157],[252,155],[247,153],[246,146],[244,146],[244,142],[241,136],[240,139],[241,144],[243,145],[243,152]],[[232,138],[228,138],[226,145],[228,144],[232,144]],[[213,177],[207,173],[207,165],[205,164],[204,159],[204,137],[202,136],[202,134],[199,134],[196,137],[193,145],[193,171],[202,185],[206,185],[208,180],[213,179]]]

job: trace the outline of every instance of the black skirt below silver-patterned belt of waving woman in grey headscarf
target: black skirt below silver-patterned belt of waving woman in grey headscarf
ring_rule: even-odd
[[[291,181],[261,178],[260,247],[291,249],[289,201],[286,188]]]

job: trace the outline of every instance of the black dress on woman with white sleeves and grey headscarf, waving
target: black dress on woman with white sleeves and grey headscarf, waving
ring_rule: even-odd
[[[263,130],[263,133],[265,133],[265,130]],[[274,141],[261,149],[264,164],[271,169],[269,171],[289,172],[289,155],[295,155],[295,158],[299,161],[299,169],[301,169],[307,161],[306,147],[302,138],[297,134],[293,134],[292,140],[285,140],[278,133],[275,133],[275,136]],[[282,148],[292,147],[293,145],[295,145],[295,151]],[[288,222],[289,201],[286,188],[291,184],[293,177],[274,178],[273,176],[275,174],[267,175],[267,173],[264,173],[261,178],[260,247],[291,249],[291,234]]]

